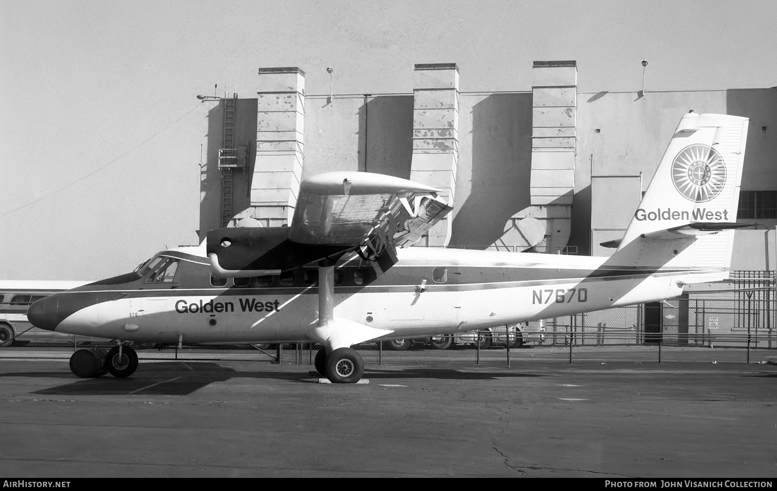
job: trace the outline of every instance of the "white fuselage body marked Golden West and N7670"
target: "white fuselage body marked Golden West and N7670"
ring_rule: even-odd
[[[607,258],[587,256],[427,248],[400,249],[397,256],[364,284],[348,276],[357,258],[338,266],[345,280],[334,287],[336,319],[391,332],[383,338],[457,333],[669,298],[681,293],[685,276],[605,267]],[[176,257],[179,270],[190,269],[188,277],[210,276],[203,256]],[[312,340],[315,284],[236,287],[232,281],[225,287],[183,279],[166,289],[145,288],[143,280],[91,287],[89,294],[103,300],[72,312],[56,330],[153,343],[176,343],[179,335],[186,343]]]

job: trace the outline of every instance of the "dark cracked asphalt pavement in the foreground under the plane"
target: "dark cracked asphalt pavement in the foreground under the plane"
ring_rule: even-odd
[[[2,360],[0,476],[777,475],[777,367]]]

